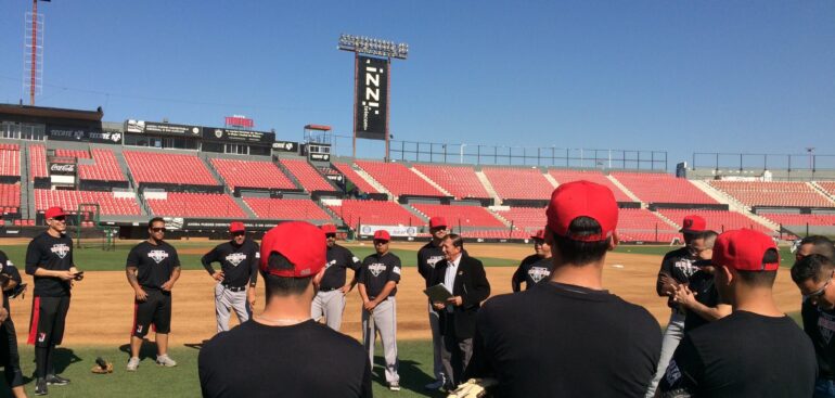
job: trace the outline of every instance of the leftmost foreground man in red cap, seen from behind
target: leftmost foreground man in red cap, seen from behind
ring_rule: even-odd
[[[371,397],[362,346],[310,318],[326,261],[324,233],[283,222],[264,235],[260,253],[264,312],[203,346],[203,397]]]

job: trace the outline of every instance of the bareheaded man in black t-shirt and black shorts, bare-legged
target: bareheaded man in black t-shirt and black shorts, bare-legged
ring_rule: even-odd
[[[134,293],[129,372],[139,367],[139,350],[152,323],[156,331],[156,364],[177,365],[168,356],[168,334],[171,332],[171,290],[180,278],[180,257],[174,246],[163,241],[165,232],[165,220],[152,218],[147,222],[147,240],[130,249],[125,264],[128,283]]]

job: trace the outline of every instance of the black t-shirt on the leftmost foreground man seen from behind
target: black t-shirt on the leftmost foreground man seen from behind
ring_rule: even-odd
[[[203,397],[371,397],[362,345],[312,320],[247,321],[211,337],[197,358]]]

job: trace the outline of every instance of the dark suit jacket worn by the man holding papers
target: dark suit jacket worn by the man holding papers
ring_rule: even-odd
[[[449,317],[447,309],[438,311],[440,314],[441,333],[449,333],[451,330],[458,339],[473,338],[475,335],[475,316],[481,301],[490,296],[490,282],[487,281],[487,274],[484,265],[476,258],[470,257],[466,253],[461,254],[461,262],[458,265],[458,274],[452,284],[452,295],[461,296],[461,306],[454,306],[452,314]],[[438,261],[433,272],[433,285],[444,283],[444,277],[447,273],[448,262]],[[449,287],[449,286],[447,286]],[[452,318],[452,328],[447,328],[447,322]]]

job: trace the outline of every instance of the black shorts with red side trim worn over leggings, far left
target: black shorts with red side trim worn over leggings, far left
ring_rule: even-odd
[[[38,347],[60,345],[64,339],[67,311],[69,311],[69,296],[33,297],[29,338],[26,343]]]

